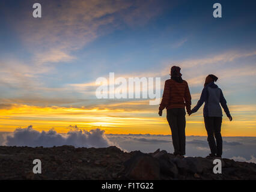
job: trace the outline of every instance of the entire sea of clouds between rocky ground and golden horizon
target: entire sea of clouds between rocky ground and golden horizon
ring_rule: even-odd
[[[157,149],[173,152],[171,135],[105,134],[99,128],[90,131],[69,127],[68,133],[54,129],[37,131],[30,125],[12,133],[0,132],[0,145],[7,146],[61,146],[105,148],[115,145],[123,151],[154,152]],[[187,136],[186,156],[205,157],[210,153],[207,137]],[[223,157],[236,161],[256,163],[256,137],[223,137]]]

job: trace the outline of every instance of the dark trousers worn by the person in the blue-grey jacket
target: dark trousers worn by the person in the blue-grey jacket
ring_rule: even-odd
[[[222,117],[204,117],[204,125],[206,126],[206,131],[208,134],[207,140],[211,149],[211,153],[219,156],[222,155],[221,124]]]

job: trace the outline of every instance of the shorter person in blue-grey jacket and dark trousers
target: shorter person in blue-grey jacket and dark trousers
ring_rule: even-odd
[[[204,104],[204,124],[208,134],[207,140],[210,146],[211,154],[207,158],[220,157],[222,155],[222,137],[221,137],[221,124],[222,124],[222,110],[223,107],[226,115],[232,121],[230,111],[228,110],[227,101],[220,88],[214,83],[218,80],[213,74],[206,77],[204,89],[202,91],[200,100],[192,109],[192,113]],[[219,105],[221,103],[221,106]],[[215,142],[216,139],[216,142]]]

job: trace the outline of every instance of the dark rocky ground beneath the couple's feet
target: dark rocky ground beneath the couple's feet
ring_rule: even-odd
[[[34,174],[34,159],[41,174]],[[144,154],[108,148],[29,148],[0,146],[0,179],[256,179],[256,164],[222,159],[222,174],[213,160],[175,158],[166,151]]]

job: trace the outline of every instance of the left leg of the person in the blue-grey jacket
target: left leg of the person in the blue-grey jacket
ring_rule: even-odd
[[[210,150],[212,154],[216,154],[217,152],[217,147],[215,143],[215,138],[213,136],[214,133],[214,122],[213,122],[213,117],[205,116],[204,117],[204,125],[206,126],[206,131],[207,131],[207,140],[210,146]]]

